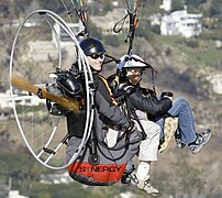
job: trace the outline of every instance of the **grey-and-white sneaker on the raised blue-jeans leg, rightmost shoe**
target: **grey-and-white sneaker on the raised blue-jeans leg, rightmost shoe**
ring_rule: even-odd
[[[188,144],[190,151],[196,154],[199,153],[200,150],[211,138],[211,130],[207,129],[203,133],[197,133],[197,139],[195,142]]]

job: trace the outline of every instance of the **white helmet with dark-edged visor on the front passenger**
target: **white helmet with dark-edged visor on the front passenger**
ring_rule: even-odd
[[[122,70],[123,68],[147,68],[145,62],[137,55],[124,55],[120,58],[116,67]]]

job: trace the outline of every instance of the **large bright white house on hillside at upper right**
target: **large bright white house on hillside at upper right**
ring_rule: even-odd
[[[162,18],[162,35],[198,36],[202,32],[202,14],[187,13],[187,10],[175,11]]]

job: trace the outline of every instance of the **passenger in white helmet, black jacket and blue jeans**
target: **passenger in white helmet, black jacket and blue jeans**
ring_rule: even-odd
[[[154,95],[144,91],[144,89],[140,87],[140,80],[142,79],[142,72],[145,68],[145,65],[144,61],[137,55],[124,55],[118,64],[118,68],[121,70],[120,82],[122,87],[123,85],[130,87],[130,89],[127,89],[127,98],[132,107],[140,110],[140,112],[145,112],[146,118],[148,117],[152,118],[152,120],[157,121],[162,129],[164,116],[170,114],[173,117],[178,117],[177,131],[181,134],[180,145],[182,145],[182,147],[188,145],[193,154],[200,152],[202,146],[210,140],[210,129],[207,129],[203,133],[196,133],[191,109],[185,98],[178,97],[173,99],[171,92],[165,92],[165,95],[162,95],[162,97],[157,99]],[[147,164],[144,169],[148,169]],[[145,177],[140,177],[143,175],[141,174],[142,172],[142,168],[140,168],[138,165],[137,172],[133,176],[137,177],[137,187],[143,188],[148,193],[148,187],[145,186]]]

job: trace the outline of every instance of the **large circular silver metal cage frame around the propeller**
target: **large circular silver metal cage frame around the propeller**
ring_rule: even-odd
[[[14,53],[16,50],[16,43],[18,43],[18,37],[19,34],[21,32],[21,30],[24,28],[25,22],[32,18],[33,15],[38,14],[41,16],[45,18],[45,22],[47,23],[47,25],[52,29],[52,31],[54,32],[54,34],[56,35],[56,42],[57,42],[57,47],[58,47],[58,67],[62,67],[62,47],[60,47],[60,41],[59,41],[59,36],[57,35],[54,26],[48,22],[47,18],[51,19],[52,21],[54,21],[55,23],[57,23],[71,38],[71,42],[74,42],[74,44],[76,45],[76,48],[78,51],[78,67],[79,70],[84,72],[84,77],[85,77],[85,84],[86,84],[86,121],[85,121],[85,130],[84,130],[84,136],[81,140],[81,143],[78,147],[78,150],[75,152],[75,154],[73,155],[73,157],[70,158],[69,162],[64,163],[63,165],[59,166],[55,166],[55,165],[51,165],[51,160],[56,155],[56,152],[62,147],[62,145],[64,145],[65,141],[60,141],[57,146],[55,148],[53,148],[53,152],[51,152],[51,154],[48,155],[48,157],[46,160],[42,158],[42,155],[46,152],[45,148],[48,146],[48,144],[51,143],[51,141],[53,140],[56,131],[57,131],[57,124],[59,123],[59,118],[57,119],[57,124],[54,125],[54,129],[52,130],[52,134],[48,139],[48,141],[45,143],[45,145],[42,147],[42,151],[40,153],[35,153],[30,144],[30,142],[27,141],[24,132],[23,132],[23,127],[21,124],[21,120],[18,117],[18,109],[16,109],[16,100],[21,100],[21,98],[23,96],[18,96],[14,92],[14,87],[11,82],[11,78],[13,76],[13,58],[14,58]],[[92,88],[92,84],[93,84],[93,79],[92,79],[92,73],[90,69],[90,66],[87,62],[87,57],[84,54],[84,52],[81,51],[78,41],[74,34],[74,32],[71,31],[71,29],[67,25],[67,23],[56,13],[49,11],[49,10],[36,10],[33,11],[32,13],[30,13],[23,21],[23,23],[19,26],[19,30],[15,34],[14,41],[13,41],[13,45],[12,45],[12,51],[11,51],[11,57],[10,57],[10,95],[11,95],[11,101],[12,101],[12,107],[13,107],[13,112],[14,112],[14,117],[15,117],[15,121],[16,124],[19,127],[19,131],[27,146],[27,148],[30,150],[30,152],[32,153],[32,155],[45,167],[51,168],[51,169],[63,169],[66,168],[67,166],[69,166],[79,155],[79,153],[85,148],[85,145],[90,136],[90,132],[91,132],[91,128],[92,128],[92,122],[93,122],[93,114],[95,114],[95,110],[93,110],[93,88]],[[35,85],[36,87],[45,87],[45,85]],[[24,96],[24,97],[32,97],[32,96]],[[67,136],[65,136],[64,139],[67,139]]]

